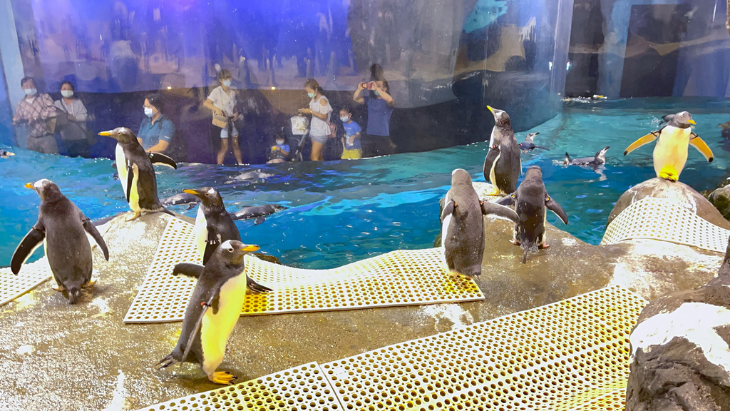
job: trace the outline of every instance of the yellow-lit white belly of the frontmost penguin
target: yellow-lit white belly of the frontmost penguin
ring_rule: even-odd
[[[241,315],[246,298],[246,275],[242,274],[229,279],[220,287],[218,297],[218,314],[210,308],[203,317],[200,330],[200,344],[203,350],[203,371],[210,375],[223,361],[226,343],[231,335],[238,317]]]

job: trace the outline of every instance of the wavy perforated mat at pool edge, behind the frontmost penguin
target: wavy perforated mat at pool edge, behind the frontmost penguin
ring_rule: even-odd
[[[171,219],[125,323],[181,321],[196,280],[173,276],[199,263],[193,225]],[[242,315],[363,309],[484,299],[472,279],[450,276],[440,249],[399,250],[331,270],[291,268],[246,257],[247,275],[274,291],[249,294]]]

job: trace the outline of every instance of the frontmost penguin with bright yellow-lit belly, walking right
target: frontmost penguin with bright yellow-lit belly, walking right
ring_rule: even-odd
[[[183,263],[174,268],[173,274],[195,277],[198,284],[185,310],[180,339],[174,350],[157,363],[159,368],[197,362],[208,380],[216,384],[230,384],[236,378],[215,369],[223,361],[228,336],[241,315],[246,288],[254,292],[271,291],[245,273],[244,257],[257,249],[258,246],[228,240],[215,250],[205,266]]]

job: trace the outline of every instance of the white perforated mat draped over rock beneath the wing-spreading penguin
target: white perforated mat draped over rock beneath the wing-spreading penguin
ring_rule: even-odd
[[[675,202],[645,197],[613,219],[601,244],[648,238],[725,252],[728,235],[730,230],[708,222]]]

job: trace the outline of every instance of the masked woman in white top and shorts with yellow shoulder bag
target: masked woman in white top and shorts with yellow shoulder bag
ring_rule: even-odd
[[[241,155],[241,146],[238,143],[238,129],[234,121],[238,119],[238,109],[236,108],[236,92],[231,90],[231,80],[233,75],[227,69],[220,70],[218,73],[218,81],[220,86],[210,92],[210,96],[205,100],[203,105],[213,112],[214,116],[225,118],[223,121],[225,126],[215,127],[214,132],[220,132],[220,151],[218,151],[218,164],[223,164],[228,153],[228,137],[233,140],[233,154],[236,156],[238,165],[243,164]]]

